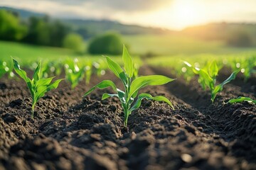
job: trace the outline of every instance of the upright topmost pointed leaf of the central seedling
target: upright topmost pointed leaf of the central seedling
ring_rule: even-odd
[[[134,64],[132,62],[132,57],[129,55],[127,48],[124,45],[123,53],[122,53],[122,60],[124,62],[124,69],[127,72],[129,78],[132,78],[134,72]]]

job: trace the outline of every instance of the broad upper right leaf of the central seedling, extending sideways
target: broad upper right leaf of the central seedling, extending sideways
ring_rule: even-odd
[[[139,91],[145,86],[156,86],[166,84],[170,81],[174,81],[174,79],[170,79],[169,77],[161,76],[161,75],[152,75],[152,76],[143,76],[134,79],[131,84],[131,89],[128,98],[130,98],[134,93]]]

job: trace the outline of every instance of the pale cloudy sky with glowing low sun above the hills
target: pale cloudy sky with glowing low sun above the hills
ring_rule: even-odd
[[[0,6],[173,30],[212,22],[256,23],[256,0],[1,0]]]

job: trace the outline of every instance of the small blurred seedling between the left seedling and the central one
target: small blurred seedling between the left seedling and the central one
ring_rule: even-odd
[[[78,59],[67,60],[65,63],[65,79],[71,84],[71,89],[75,89],[78,83],[85,76],[85,69],[78,67]]]

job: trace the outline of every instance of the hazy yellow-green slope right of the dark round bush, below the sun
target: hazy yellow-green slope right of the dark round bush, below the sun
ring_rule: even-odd
[[[227,47],[222,41],[203,41],[184,35],[129,35],[124,42],[131,53],[136,55],[232,55],[252,51],[253,48]]]

